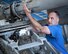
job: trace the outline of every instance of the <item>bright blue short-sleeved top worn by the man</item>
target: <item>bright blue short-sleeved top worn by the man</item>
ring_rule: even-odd
[[[47,40],[62,54],[68,54],[64,47],[62,28],[60,25],[48,26],[51,34],[46,34]]]

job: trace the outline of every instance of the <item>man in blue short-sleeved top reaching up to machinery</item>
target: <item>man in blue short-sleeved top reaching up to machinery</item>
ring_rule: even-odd
[[[68,54],[64,47],[64,39],[62,35],[62,28],[59,23],[59,13],[52,11],[49,13],[48,26],[42,26],[39,24],[30,14],[26,4],[24,4],[24,11],[29,20],[33,24],[34,28],[41,33],[46,34],[47,40],[59,51],[61,54]]]

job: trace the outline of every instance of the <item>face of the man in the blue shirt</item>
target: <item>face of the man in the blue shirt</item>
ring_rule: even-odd
[[[48,18],[48,23],[49,23],[49,25],[56,25],[56,24],[58,24],[58,16],[56,15],[56,13],[55,12],[51,12],[50,14],[49,14],[49,18]]]

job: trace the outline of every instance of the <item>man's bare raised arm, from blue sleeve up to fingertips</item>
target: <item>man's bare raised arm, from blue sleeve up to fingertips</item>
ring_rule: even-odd
[[[28,10],[26,4],[24,4],[24,11],[26,13],[26,15],[28,16],[28,18],[30,19],[31,23],[33,24],[33,26],[40,32],[42,33],[46,33],[46,34],[50,34],[50,30],[48,29],[47,26],[42,26],[41,24],[39,24],[34,18],[32,18],[30,11]]]

